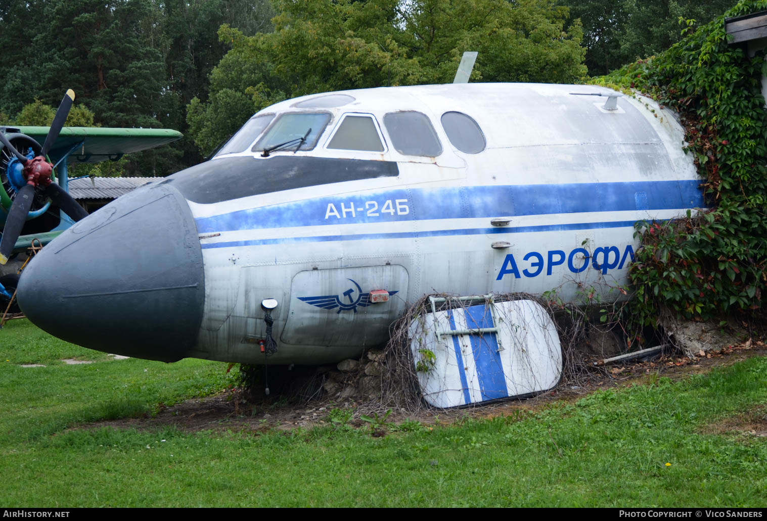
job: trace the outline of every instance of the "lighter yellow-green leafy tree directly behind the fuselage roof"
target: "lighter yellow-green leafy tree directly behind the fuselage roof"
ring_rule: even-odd
[[[232,50],[212,71],[208,103],[187,119],[209,152],[256,110],[315,92],[449,83],[463,51],[473,81],[574,83],[585,77],[581,26],[553,0],[295,0],[275,31],[223,27]]]

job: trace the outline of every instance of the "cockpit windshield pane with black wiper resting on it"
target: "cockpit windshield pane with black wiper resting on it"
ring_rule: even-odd
[[[255,152],[264,149],[275,149],[275,151],[314,149],[330,120],[331,115],[326,112],[281,114],[264,136],[258,139],[258,143],[255,143],[252,150]]]

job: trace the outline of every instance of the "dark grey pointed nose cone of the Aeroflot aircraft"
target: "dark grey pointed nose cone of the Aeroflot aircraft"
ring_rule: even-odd
[[[68,342],[174,362],[196,341],[203,277],[189,205],[160,183],[51,241],[25,268],[17,297],[32,323]]]

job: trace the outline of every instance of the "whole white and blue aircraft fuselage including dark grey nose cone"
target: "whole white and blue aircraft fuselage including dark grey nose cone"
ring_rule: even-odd
[[[449,84],[278,103],[259,114],[329,114],[314,149],[262,157],[249,145],[123,196],[30,263],[21,308],[55,336],[127,356],[314,364],[385,342],[424,293],[557,288],[574,300],[593,286],[615,299],[634,223],[703,197],[673,114],[572,94],[604,91]],[[384,124],[397,111],[428,116],[442,152],[398,152]],[[479,125],[481,152],[453,146],[440,123],[451,111]],[[382,152],[328,148],[350,114],[372,118]],[[389,300],[371,303],[371,290]],[[268,359],[265,298],[279,303]]]

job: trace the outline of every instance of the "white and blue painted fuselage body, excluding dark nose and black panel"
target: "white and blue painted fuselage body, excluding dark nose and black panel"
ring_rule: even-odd
[[[331,113],[331,121],[310,151],[262,158],[249,146],[234,156],[388,161],[397,163],[399,175],[189,202],[206,287],[189,356],[264,362],[251,342],[264,336],[259,304],[265,298],[279,303],[272,312],[278,352],[268,359],[278,364],[358,356],[385,342],[389,323],[425,293],[556,289],[574,300],[579,288],[593,286],[601,298],[617,298],[611,287],[627,283],[638,245],[634,222],[674,218],[703,200],[673,115],[641,97],[621,97],[611,113],[601,110],[605,97],[571,94],[604,91],[543,84],[392,87],[347,91],[354,101],[344,106],[296,108],[312,98],[304,97],[262,110],[317,110]],[[393,148],[384,115],[400,110],[430,118],[443,146],[439,156],[403,156]],[[476,120],[486,149],[468,154],[450,143],[440,123],[449,111]],[[384,152],[326,148],[346,113],[375,117]],[[264,215],[271,218],[262,226]],[[239,225],[239,216],[255,224]],[[493,218],[509,224],[492,226]],[[228,226],[210,224],[227,219]],[[493,248],[498,241],[510,246]],[[380,289],[397,293],[387,303],[357,300]],[[315,298],[334,296],[347,309],[332,302],[323,308]]]

